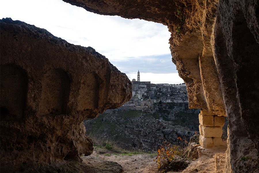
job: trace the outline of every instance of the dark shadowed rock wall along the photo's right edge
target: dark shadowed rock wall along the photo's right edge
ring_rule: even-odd
[[[214,57],[229,120],[226,172],[259,172],[258,5],[221,1],[217,11]]]

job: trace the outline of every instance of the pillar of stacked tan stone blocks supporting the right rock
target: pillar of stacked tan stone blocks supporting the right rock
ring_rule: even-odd
[[[207,111],[201,110],[199,114],[199,143],[204,148],[224,145],[222,136],[222,127],[225,123],[224,116],[218,116]]]

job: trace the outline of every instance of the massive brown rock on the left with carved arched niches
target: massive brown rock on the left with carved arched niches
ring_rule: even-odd
[[[83,120],[121,106],[131,87],[93,48],[2,19],[1,171],[81,161],[93,151]]]

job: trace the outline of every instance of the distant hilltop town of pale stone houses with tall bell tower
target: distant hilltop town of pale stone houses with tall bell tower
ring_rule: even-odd
[[[132,79],[132,98],[123,104],[128,108],[152,108],[154,103],[188,103],[185,83],[182,84],[152,84],[150,81],[140,81],[138,71],[137,81]]]

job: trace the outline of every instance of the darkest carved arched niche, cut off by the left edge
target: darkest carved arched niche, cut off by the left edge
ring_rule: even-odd
[[[26,72],[14,64],[1,65],[1,120],[24,117],[28,78]]]

